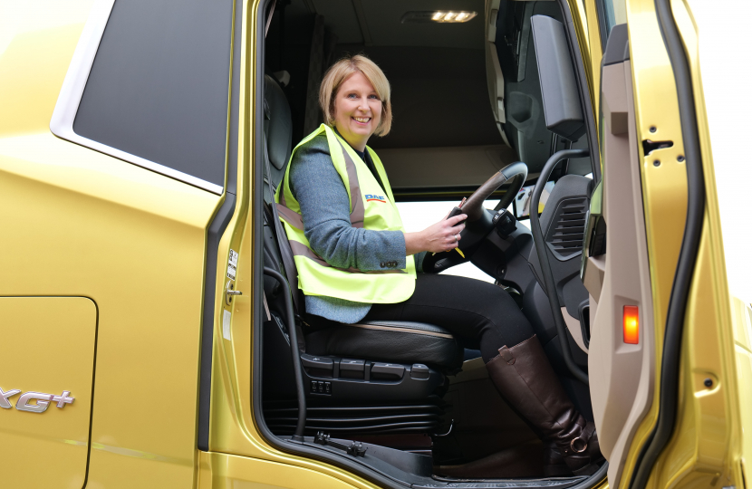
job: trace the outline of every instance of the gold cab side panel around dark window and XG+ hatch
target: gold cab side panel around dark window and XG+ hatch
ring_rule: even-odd
[[[54,104],[91,4],[12,4],[28,24],[0,57],[11,123],[0,128],[0,295],[98,306],[87,486],[190,487],[206,228],[221,197],[55,138]],[[47,27],[34,32],[37,15]],[[14,470],[39,464],[26,457]]]

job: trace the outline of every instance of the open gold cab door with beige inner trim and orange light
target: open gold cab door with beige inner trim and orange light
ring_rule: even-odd
[[[612,7],[592,10],[607,40],[603,180],[582,270],[609,484],[742,487],[737,379],[749,362],[735,362],[696,24],[684,3],[623,8],[625,24]]]

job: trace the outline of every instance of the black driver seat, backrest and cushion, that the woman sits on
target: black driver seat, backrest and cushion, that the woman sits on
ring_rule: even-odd
[[[292,117],[290,106],[279,84],[269,75],[265,75],[265,132],[266,158],[264,162],[265,179],[271,179],[276,186],[284,177],[284,171],[292,152]],[[271,175],[267,175],[266,168]],[[267,196],[265,182],[265,201],[271,203]],[[270,219],[273,220],[273,219]],[[284,233],[284,231],[283,231]],[[276,243],[285,246],[286,243]],[[267,253],[277,252],[276,246],[268,246]],[[276,263],[281,263],[275,257]],[[287,277],[297,276],[294,262],[284,263]],[[294,281],[289,281],[295,283]],[[300,290],[296,301],[303,306]],[[303,315],[303,314],[301,314]],[[318,319],[318,318],[316,318]],[[313,321],[312,321],[313,322]],[[308,356],[331,356],[343,359],[364,360],[371,365],[398,363],[406,366],[428,366],[442,374],[457,370],[463,361],[464,347],[451,332],[439,326],[412,321],[361,321],[357,324],[345,324],[335,321],[315,321],[315,328],[304,331],[303,364]],[[313,368],[312,368],[313,369]]]

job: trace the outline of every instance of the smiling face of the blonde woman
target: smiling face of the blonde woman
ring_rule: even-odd
[[[364,151],[381,121],[381,100],[362,72],[342,82],[334,96],[334,126],[352,148]]]

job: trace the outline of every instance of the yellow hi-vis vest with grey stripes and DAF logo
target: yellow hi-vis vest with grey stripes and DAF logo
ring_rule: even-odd
[[[350,197],[352,227],[373,231],[403,231],[402,219],[394,204],[386,171],[371,148],[366,147],[366,150],[371,155],[373,166],[379,172],[386,196],[381,195],[379,182],[358,154],[325,124],[295,147],[290,161],[298,148],[322,132],[326,133],[334,168],[342,177]],[[410,298],[415,290],[415,261],[412,257],[408,257],[407,268],[404,270],[362,271],[355,268],[337,268],[327,264],[321,256],[313,252],[308,240],[305,239],[300,204],[290,191],[289,163],[284,172],[282,185],[277,188],[275,202],[293,250],[295,266],[298,269],[298,286],[306,295],[325,295],[369,303],[394,303]]]

